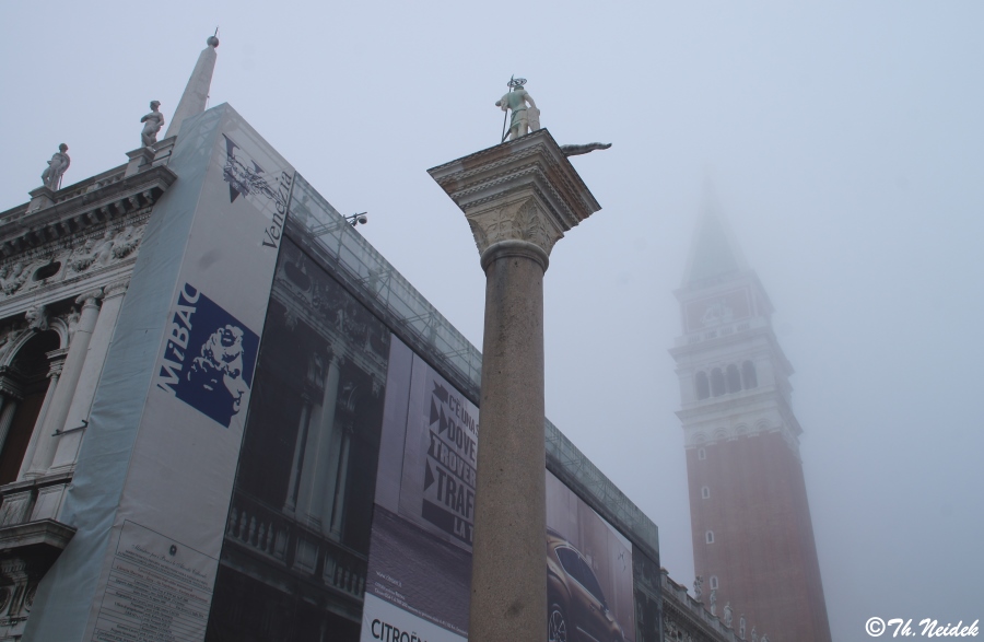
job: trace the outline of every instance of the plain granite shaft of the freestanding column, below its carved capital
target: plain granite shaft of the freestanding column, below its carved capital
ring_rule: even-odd
[[[522,247],[496,249],[482,261],[485,328],[468,639],[542,642],[544,266]]]

